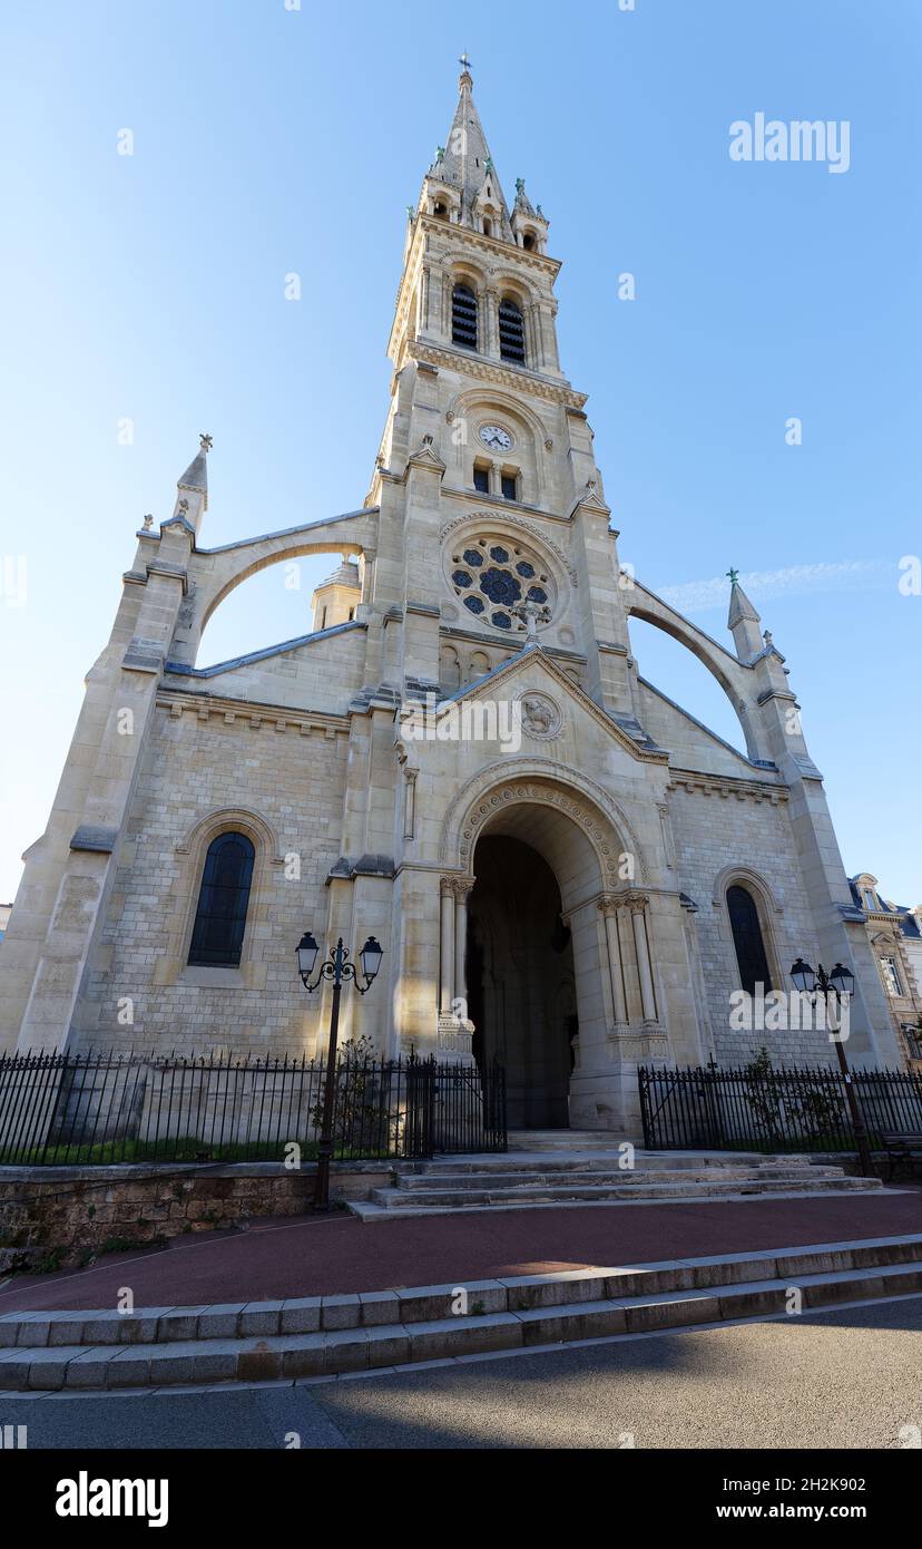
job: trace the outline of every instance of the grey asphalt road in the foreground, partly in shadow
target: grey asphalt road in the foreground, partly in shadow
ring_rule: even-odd
[[[29,1448],[614,1448],[628,1436],[900,1448],[922,1427],[920,1332],[922,1297],[910,1297],[320,1385],[0,1396],[0,1425],[26,1425]]]

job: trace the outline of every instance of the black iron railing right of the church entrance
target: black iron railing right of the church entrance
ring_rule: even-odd
[[[642,1066],[644,1145],[651,1151],[854,1151],[845,1080],[831,1066],[651,1069]],[[922,1132],[922,1080],[854,1070],[871,1146],[885,1131]]]

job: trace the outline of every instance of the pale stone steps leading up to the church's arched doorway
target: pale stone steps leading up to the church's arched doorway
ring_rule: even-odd
[[[600,1143],[602,1140],[602,1143]],[[625,1168],[599,1131],[520,1131],[497,1156],[453,1156],[394,1169],[388,1188],[350,1200],[364,1221],[548,1205],[651,1205],[678,1200],[780,1199],[880,1190],[876,1177],[846,1177],[808,1156],[727,1151],[636,1151]]]

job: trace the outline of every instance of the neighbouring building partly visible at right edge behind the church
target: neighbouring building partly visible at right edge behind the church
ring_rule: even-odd
[[[855,905],[868,922],[868,940],[903,1060],[922,1066],[922,906],[891,903],[871,872],[849,878]]]

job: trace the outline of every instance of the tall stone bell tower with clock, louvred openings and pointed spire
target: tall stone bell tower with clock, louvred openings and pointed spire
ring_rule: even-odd
[[[617,534],[592,454],[586,397],[560,364],[560,260],[548,254],[549,222],[523,178],[509,204],[469,60],[461,64],[446,144],[436,147],[408,209],[388,342],[391,404],[367,497],[381,507],[376,604],[388,603],[381,683],[410,697],[458,686],[446,652],[453,634],[463,641],[489,637],[478,657],[486,669],[507,658],[504,638],[512,651],[526,643],[521,617],[464,596],[452,582],[446,531],[476,503],[540,534],[560,555],[566,584],[555,595],[546,581],[532,576],[532,587],[518,587],[512,578],[506,601],[545,609],[538,644],[562,658],[579,657],[591,697],[631,716]],[[498,584],[498,596],[501,590]]]

